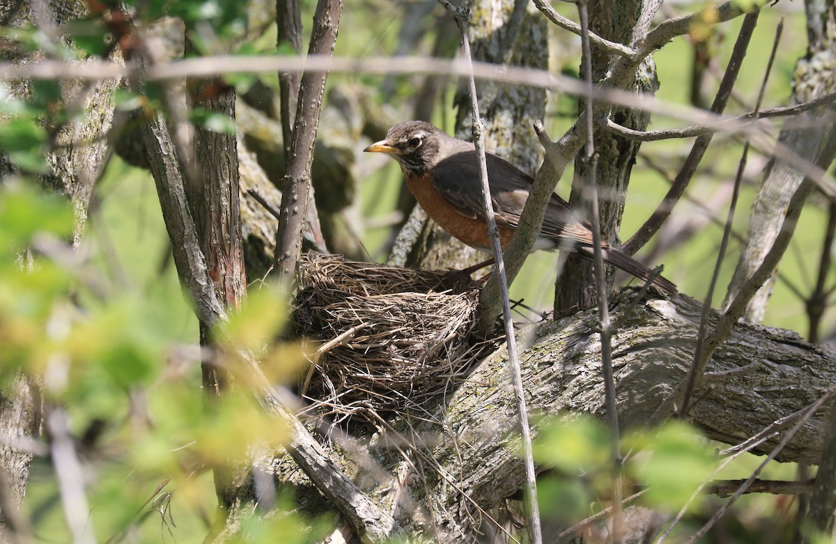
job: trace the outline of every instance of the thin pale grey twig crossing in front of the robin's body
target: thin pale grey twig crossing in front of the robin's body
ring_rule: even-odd
[[[470,40],[467,38],[466,21],[469,13],[462,8],[454,8],[447,0],[439,0],[446,10],[456,20],[461,38],[462,52],[466,61],[472,60],[470,51]],[[534,453],[531,444],[531,427],[528,424],[528,408],[525,400],[525,389],[523,389],[523,372],[520,369],[519,353],[517,352],[517,338],[514,333],[513,315],[511,303],[508,297],[508,282],[505,274],[505,261],[502,257],[502,242],[499,239],[499,229],[494,216],[493,203],[491,198],[491,187],[487,179],[487,160],[485,157],[485,143],[482,140],[482,118],[479,115],[479,103],[477,100],[476,79],[473,74],[467,80],[470,91],[471,107],[473,112],[473,140],[476,144],[477,157],[479,160],[479,179],[482,181],[482,205],[485,206],[487,218],[487,233],[491,238],[493,259],[496,263],[496,277],[499,282],[499,293],[502,297],[502,315],[505,322],[505,338],[508,352],[508,369],[511,372],[511,383],[514,399],[517,404],[517,417],[520,426],[520,435],[523,440],[523,463],[525,465],[526,485],[526,510],[528,514],[528,532],[534,544],[543,544],[543,531],[540,527],[540,508],[537,499],[537,472],[534,470]]]

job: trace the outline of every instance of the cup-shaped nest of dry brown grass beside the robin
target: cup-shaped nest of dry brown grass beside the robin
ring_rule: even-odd
[[[294,320],[320,344],[302,394],[338,419],[438,399],[477,357],[470,284],[457,272],[304,256]]]

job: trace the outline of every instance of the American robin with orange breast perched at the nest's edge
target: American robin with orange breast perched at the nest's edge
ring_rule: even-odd
[[[424,121],[409,121],[393,126],[385,140],[364,151],[391,155],[404,172],[406,186],[433,221],[468,246],[491,252],[479,164],[472,142],[453,138]],[[493,211],[502,249],[505,249],[519,225],[534,180],[507,160],[490,153],[486,155]],[[564,248],[591,259],[592,231],[589,222],[578,221],[568,203],[553,194],[533,249]],[[602,249],[605,262],[635,277],[644,280],[650,277],[650,268],[633,257],[606,242]],[[664,277],[657,276],[653,282],[671,295],[676,293],[676,286]]]

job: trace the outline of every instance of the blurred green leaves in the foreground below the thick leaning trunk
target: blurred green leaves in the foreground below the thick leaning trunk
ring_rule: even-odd
[[[716,451],[715,443],[680,420],[629,430],[619,442],[622,496],[637,495],[630,506],[667,516],[683,511],[671,538],[687,538],[724,502],[706,495],[703,486],[711,480],[746,479],[762,462],[762,457],[741,455],[729,463]],[[568,529],[611,506],[614,445],[599,419],[571,414],[551,420],[534,442],[534,457],[546,469],[538,478],[543,519]],[[772,462],[761,477],[793,480],[796,470],[793,463]],[[761,541],[776,531],[789,536],[795,506],[789,496],[743,496],[717,534],[730,541]]]

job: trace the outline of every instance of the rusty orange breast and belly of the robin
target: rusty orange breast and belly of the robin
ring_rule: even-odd
[[[442,229],[451,236],[458,238],[470,247],[490,252],[491,240],[487,236],[487,224],[484,221],[461,215],[456,208],[451,206],[444,197],[433,188],[429,176],[415,177],[405,176],[406,186],[415,196],[415,200],[421,204],[433,221],[438,223]],[[512,228],[499,227],[499,239],[502,242],[502,249],[511,243],[514,234]]]

